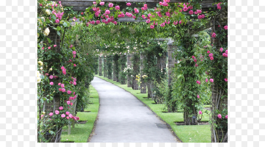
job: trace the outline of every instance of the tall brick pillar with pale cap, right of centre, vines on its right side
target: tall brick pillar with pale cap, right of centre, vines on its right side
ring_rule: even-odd
[[[168,86],[170,86],[172,81],[172,71],[177,63],[177,60],[173,57],[174,51],[177,50],[177,46],[174,46],[173,43],[168,43]]]

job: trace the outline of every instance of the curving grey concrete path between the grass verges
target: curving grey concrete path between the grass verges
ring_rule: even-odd
[[[90,142],[176,142],[168,127],[124,89],[94,77],[100,108]]]

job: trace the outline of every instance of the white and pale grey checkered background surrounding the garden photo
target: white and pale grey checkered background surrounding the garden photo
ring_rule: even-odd
[[[265,146],[265,1],[228,0],[228,143],[37,143],[37,1],[0,2],[0,146]]]

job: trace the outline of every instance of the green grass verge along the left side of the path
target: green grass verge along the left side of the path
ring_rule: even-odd
[[[87,142],[88,137],[93,129],[94,122],[97,117],[97,112],[99,108],[98,93],[93,86],[89,86],[90,92],[90,102],[88,108],[85,111],[91,112],[77,112],[77,116],[80,118],[79,121],[87,121],[85,124],[75,124],[74,128],[71,126],[71,134],[68,135],[67,132],[62,132],[62,142],[73,141],[73,142]],[[63,127],[67,130],[67,127]],[[68,140],[67,140],[68,139]]]

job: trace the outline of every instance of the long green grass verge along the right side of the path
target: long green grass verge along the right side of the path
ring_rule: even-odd
[[[183,122],[183,113],[163,113],[164,104],[153,104],[154,101],[151,98],[143,98],[147,97],[147,93],[143,94],[140,93],[140,90],[132,90],[131,87],[127,87],[127,84],[121,85],[119,82],[112,81],[112,79],[104,78],[103,76],[94,76],[113,83],[139,98],[140,101],[149,106],[160,118],[167,122],[183,142],[211,142],[210,125],[177,126],[174,122]],[[204,116],[201,121],[208,122],[209,116],[206,113],[203,114]]]

